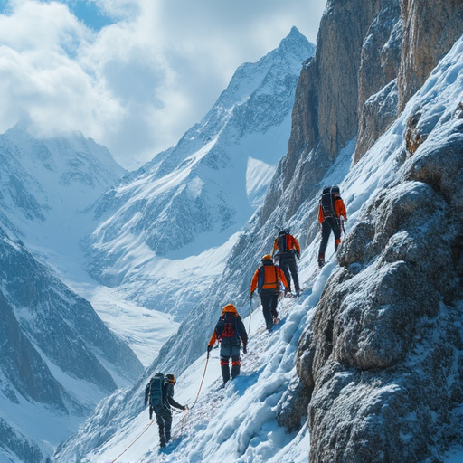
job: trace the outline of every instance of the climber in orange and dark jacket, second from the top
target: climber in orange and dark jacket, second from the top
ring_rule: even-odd
[[[273,257],[279,261],[279,268],[283,270],[288,288],[291,288],[291,276],[294,281],[294,290],[296,296],[300,294],[299,279],[298,279],[298,264],[296,259],[300,259],[300,246],[298,240],[289,234],[289,229],[279,232],[279,236],[275,238],[273,243]],[[290,274],[289,274],[290,272]]]

